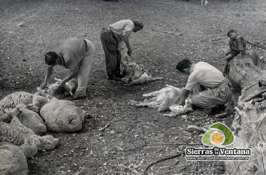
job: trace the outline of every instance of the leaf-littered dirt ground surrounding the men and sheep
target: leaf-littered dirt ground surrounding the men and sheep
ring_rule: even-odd
[[[28,160],[30,175],[141,174],[158,159],[181,153],[187,146],[157,145],[133,150],[138,144],[201,143],[202,133],[188,133],[188,125],[209,127],[222,122],[230,126],[234,104],[226,105],[227,118],[196,110],[188,118],[164,117],[151,108],[135,108],[129,100],[143,100],[143,93],[165,87],[183,87],[187,76],[175,65],[181,59],[205,61],[222,69],[222,48],[227,31],[237,29],[247,40],[266,45],[265,0],[209,0],[209,5],[190,0],[0,0],[0,98],[16,91],[36,92],[45,74],[44,53],[71,37],[89,39],[96,48],[88,96],[74,103],[88,114],[77,133],[47,133],[61,144],[53,151],[38,152]],[[133,60],[164,80],[124,86],[108,80],[100,32],[122,19],[141,19],[143,30],[129,38]],[[19,27],[18,24],[23,23]],[[173,31],[174,35],[164,32]],[[265,67],[265,50],[248,45]],[[123,51],[125,52],[125,51]],[[66,70],[55,67],[53,77]],[[53,82],[53,80],[51,80]],[[109,125],[108,125],[109,124]],[[103,131],[99,129],[108,125]],[[151,166],[146,174],[225,174],[223,162],[188,162],[184,155]]]

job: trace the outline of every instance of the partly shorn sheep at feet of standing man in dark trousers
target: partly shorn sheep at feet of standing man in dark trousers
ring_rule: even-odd
[[[125,55],[125,62],[120,61],[122,64],[122,74],[124,78],[121,81],[128,85],[138,85],[156,80],[162,80],[162,77],[152,78],[152,75],[142,65],[131,62],[131,59]]]

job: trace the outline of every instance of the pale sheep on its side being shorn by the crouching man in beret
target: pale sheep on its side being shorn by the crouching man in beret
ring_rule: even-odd
[[[191,100],[189,98],[186,99],[186,105],[185,106],[179,106],[178,102],[181,98],[181,94],[183,92],[184,88],[176,88],[174,86],[166,85],[166,87],[162,88],[161,90],[143,94],[144,97],[150,97],[155,96],[150,99],[145,99],[143,102],[137,102],[134,100],[131,100],[131,105],[135,107],[149,107],[149,108],[155,108],[158,109],[158,111],[172,111],[177,114],[178,111],[180,113],[184,113],[181,111],[190,111],[188,109],[191,109]],[[192,109],[191,109],[192,110]]]

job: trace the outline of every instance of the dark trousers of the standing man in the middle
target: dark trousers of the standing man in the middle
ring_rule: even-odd
[[[105,64],[108,78],[120,77],[121,52],[110,29],[101,32],[101,42],[105,51]]]

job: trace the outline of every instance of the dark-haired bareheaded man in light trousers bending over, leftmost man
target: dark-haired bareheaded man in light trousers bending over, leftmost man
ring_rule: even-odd
[[[68,75],[61,82],[59,87],[66,87],[66,82],[74,81],[73,78],[78,78],[78,87],[76,92],[66,100],[75,100],[86,96],[88,85],[89,72],[91,69],[92,58],[94,53],[93,44],[82,38],[70,38],[56,46],[53,51],[45,54],[45,63],[48,65],[44,82],[40,85],[43,89],[50,79],[55,65],[64,66],[68,70]]]

